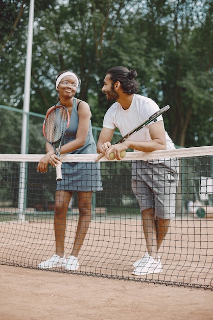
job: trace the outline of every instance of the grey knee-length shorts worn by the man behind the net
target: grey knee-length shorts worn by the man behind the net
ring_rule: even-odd
[[[132,162],[132,191],[141,211],[153,208],[158,218],[175,217],[178,169],[176,159]]]

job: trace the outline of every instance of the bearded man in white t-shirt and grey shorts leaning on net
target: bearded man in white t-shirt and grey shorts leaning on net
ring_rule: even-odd
[[[121,151],[128,148],[152,152],[175,149],[174,143],[164,129],[162,116],[134,133],[125,142],[111,145],[115,127],[122,136],[134,129],[159,110],[150,98],[137,95],[138,84],[135,70],[124,66],[112,67],[107,71],[102,91],[108,101],[116,100],[107,110],[103,128],[97,143],[97,152],[121,160]],[[135,276],[162,272],[159,248],[168,232],[170,219],[175,216],[178,170],[175,159],[169,161],[133,161],[132,190],[140,205],[147,253],[133,266]]]

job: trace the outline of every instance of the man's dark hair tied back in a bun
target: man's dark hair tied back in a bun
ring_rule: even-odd
[[[107,74],[110,74],[112,86],[114,86],[114,83],[117,81],[121,83],[123,93],[132,95],[137,92],[138,83],[134,79],[137,77],[135,70],[128,70],[125,66],[114,66],[107,70]]]

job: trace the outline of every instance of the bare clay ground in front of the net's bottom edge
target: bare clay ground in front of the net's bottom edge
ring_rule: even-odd
[[[212,319],[209,289],[0,265],[1,320]]]

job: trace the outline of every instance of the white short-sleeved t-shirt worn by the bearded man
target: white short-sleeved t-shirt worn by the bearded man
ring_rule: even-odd
[[[109,129],[119,128],[122,136],[133,130],[135,127],[143,123],[154,112],[158,111],[158,105],[150,98],[134,95],[132,103],[127,110],[124,110],[120,103],[115,102],[107,110],[103,120],[103,127]],[[155,121],[162,121],[162,115],[156,118]],[[150,122],[144,128],[131,135],[127,140],[130,141],[151,141],[149,134],[149,125],[154,121]],[[164,124],[163,124],[164,127]],[[175,145],[172,142],[169,134],[165,131],[165,138],[167,140],[167,149],[175,149]]]

